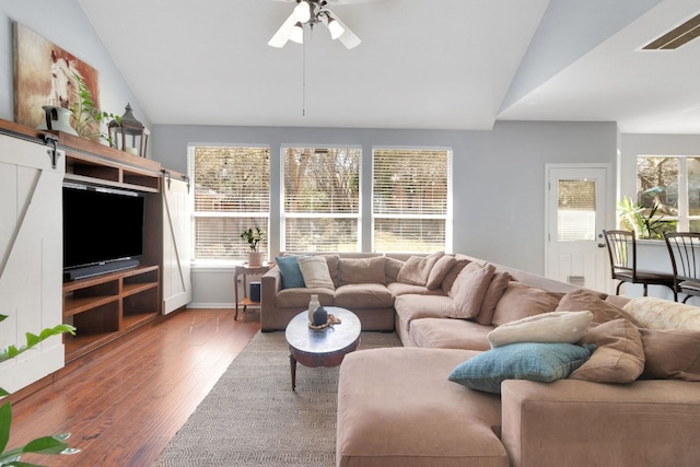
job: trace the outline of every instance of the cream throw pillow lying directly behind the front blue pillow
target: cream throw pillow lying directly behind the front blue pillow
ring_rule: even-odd
[[[576,343],[588,330],[591,312],[551,312],[506,323],[487,335],[491,348],[517,342]]]

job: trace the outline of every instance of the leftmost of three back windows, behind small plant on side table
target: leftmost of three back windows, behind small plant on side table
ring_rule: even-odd
[[[194,258],[244,259],[241,233],[268,232],[270,151],[267,148],[190,147],[195,185]],[[267,241],[259,246],[267,249]]]

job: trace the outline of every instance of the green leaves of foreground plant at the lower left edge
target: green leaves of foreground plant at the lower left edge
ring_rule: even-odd
[[[0,322],[7,318],[5,315],[0,315]],[[71,325],[58,325],[52,328],[46,328],[40,335],[36,336],[32,332],[26,334],[26,345],[20,348],[15,346],[9,346],[0,349],[0,362],[15,358],[22,352],[27,351],[37,343],[51,336],[58,336],[63,332],[75,334],[75,328]],[[9,396],[9,393],[0,388],[0,399]],[[55,434],[52,436],[42,436],[36,440],[30,441],[24,446],[7,450],[8,440],[10,439],[10,425],[12,423],[12,409],[10,402],[5,402],[0,407],[0,466],[35,466],[35,464],[26,464],[21,462],[21,457],[24,454],[75,454],[80,450],[68,446],[66,440],[70,436],[70,433]]]

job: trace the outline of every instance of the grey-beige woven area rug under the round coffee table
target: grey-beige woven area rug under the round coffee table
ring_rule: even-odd
[[[360,349],[400,346],[362,332]],[[258,332],[171,440],[153,467],[336,465],[338,367],[296,366],[284,332]]]

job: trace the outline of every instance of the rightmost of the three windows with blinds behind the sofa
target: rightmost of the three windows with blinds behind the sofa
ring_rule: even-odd
[[[452,152],[373,151],[373,252],[451,249]]]

